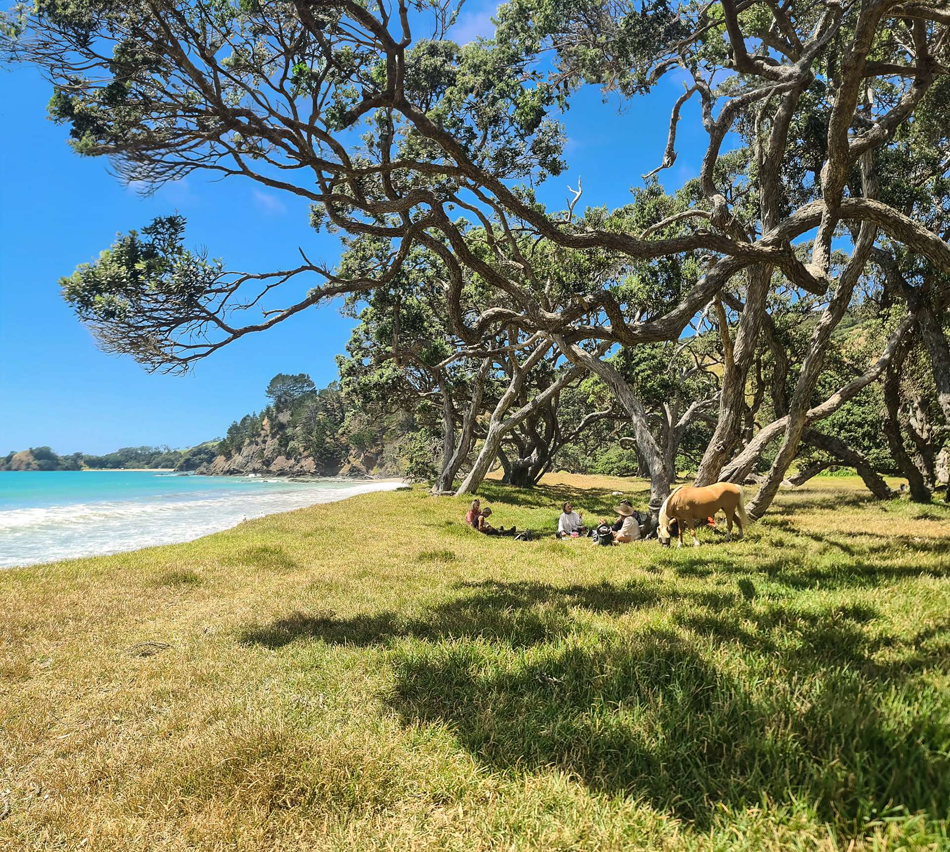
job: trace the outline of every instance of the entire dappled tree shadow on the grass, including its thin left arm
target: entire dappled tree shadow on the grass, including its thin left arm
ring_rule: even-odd
[[[950,619],[909,638],[875,635],[870,607],[763,609],[750,605],[750,585],[737,595],[649,580],[473,582],[414,617],[297,613],[241,641],[385,648],[394,676],[383,697],[404,724],[447,726],[485,767],[557,767],[700,830],[720,804],[764,799],[807,803],[845,836],[892,805],[945,817],[950,701],[924,681],[908,685],[946,665]],[[669,602],[692,638],[601,634],[577,618]],[[872,656],[884,648],[892,661],[879,664]],[[717,663],[736,654],[752,675]]]

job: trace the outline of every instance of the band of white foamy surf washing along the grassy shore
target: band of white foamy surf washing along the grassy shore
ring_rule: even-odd
[[[273,482],[136,500],[0,508],[0,567],[190,541],[240,521],[401,484]]]

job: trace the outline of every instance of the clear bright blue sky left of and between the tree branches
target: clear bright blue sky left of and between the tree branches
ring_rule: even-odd
[[[494,9],[469,4],[455,26],[458,40],[490,34]],[[569,169],[545,184],[541,199],[560,208],[567,184],[576,187],[580,175],[580,207],[625,203],[639,176],[662,159],[681,92],[671,79],[623,111],[616,99],[602,104],[596,88],[580,92],[563,117]],[[297,246],[333,264],[338,249],[334,237],[309,228],[306,203],[249,180],[213,182],[195,173],[142,198],[109,174],[106,161],[72,153],[67,128],[47,120],[50,94],[35,70],[0,69],[0,454],[40,445],[60,453],[193,445],[263,407],[276,372],[308,372],[317,385],[333,381],[333,356],[352,326],[338,304],[247,335],[185,376],[149,374],[96,348],[57,281],[117,232],[156,216],[178,211],[188,219],[188,243],[206,246],[231,269],[287,268],[297,262]],[[705,133],[693,139],[687,132],[697,113],[695,103],[683,110],[679,157],[661,174],[670,189],[698,173]]]

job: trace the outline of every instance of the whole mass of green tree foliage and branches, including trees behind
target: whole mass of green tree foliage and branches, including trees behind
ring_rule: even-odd
[[[906,472],[920,457],[915,494],[927,492],[950,426],[940,4],[508,0],[493,37],[465,46],[446,38],[457,10],[397,6],[75,0],[5,16],[11,55],[47,74],[50,116],[79,153],[148,187],[196,170],[257,180],[346,235],[333,269],[303,250],[297,266],[238,274],[185,249],[180,217],[158,218],[63,281],[104,349],[187,369],[345,296],[360,326],[340,365],[343,413],[307,388],[266,415],[278,449],[331,458],[343,444],[330,426],[371,446],[361,418],[380,412],[441,423],[448,457],[477,365],[490,367],[481,428],[519,384],[513,352],[557,346],[626,412],[654,509],[705,442],[703,482],[772,461],[754,515],[814,426],[810,406],[847,379],[839,368],[882,351],[835,350],[834,326],[866,308],[910,335],[868,382],[882,382],[893,461]],[[618,165],[637,184],[629,204],[582,209],[580,183],[566,209],[539,202],[566,165],[561,112],[585,86],[639,108],[672,74],[685,89],[656,168]],[[708,140],[699,176],[667,193],[656,176],[685,133]],[[297,276],[306,295],[281,302]],[[263,318],[241,324],[252,306]],[[874,392],[834,416],[864,416]],[[248,415],[223,448],[262,425]]]

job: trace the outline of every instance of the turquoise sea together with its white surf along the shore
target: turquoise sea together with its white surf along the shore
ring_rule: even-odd
[[[399,484],[151,470],[0,472],[0,568],[190,541],[245,519]]]

